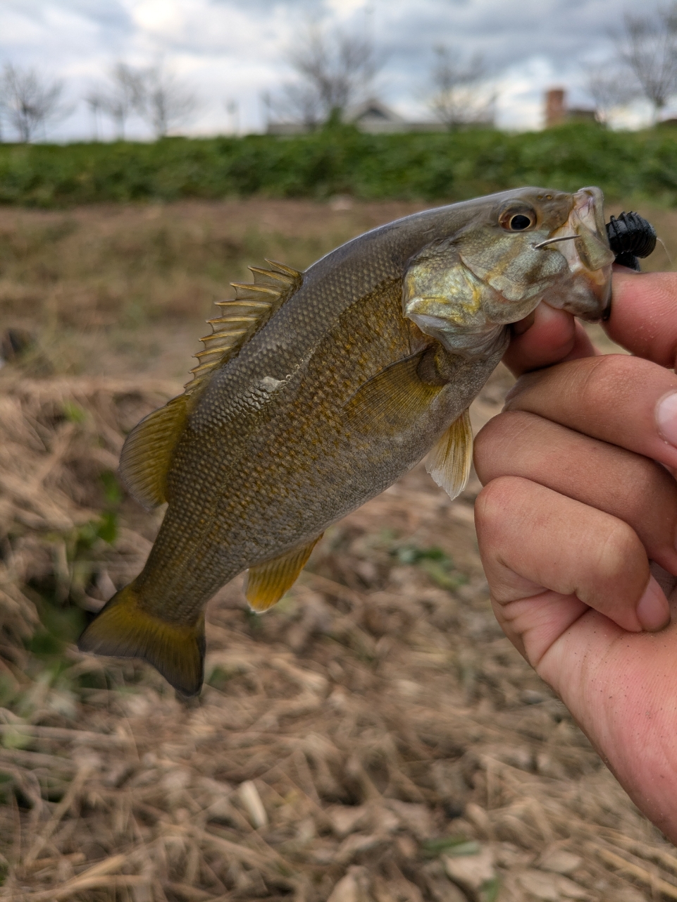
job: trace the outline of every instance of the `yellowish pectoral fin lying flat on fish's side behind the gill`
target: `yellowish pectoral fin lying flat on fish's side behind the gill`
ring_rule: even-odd
[[[402,432],[410,428],[442,391],[416,372],[425,351],[390,364],[354,393],[345,410],[346,425],[358,432]]]

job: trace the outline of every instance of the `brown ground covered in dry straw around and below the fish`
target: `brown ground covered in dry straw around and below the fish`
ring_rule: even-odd
[[[493,619],[474,478],[451,502],[417,467],[262,617],[226,586],[196,702],[74,649],[159,522],[114,481],[125,433],[180,391],[203,308],[254,252],[304,266],[412,208],[346,207],[0,210],[19,247],[0,311],[33,339],[0,370],[2,899],[677,898],[672,845]],[[159,219],[169,251],[149,262]],[[120,322],[134,272],[142,309]],[[510,384],[494,374],[475,429]]]

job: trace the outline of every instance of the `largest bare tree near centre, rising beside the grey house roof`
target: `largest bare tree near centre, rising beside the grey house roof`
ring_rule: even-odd
[[[365,99],[384,62],[370,38],[321,23],[306,25],[287,59],[297,79],[275,106],[310,129]]]

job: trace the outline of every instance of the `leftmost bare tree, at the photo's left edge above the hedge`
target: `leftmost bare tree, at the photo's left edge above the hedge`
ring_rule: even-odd
[[[0,104],[5,119],[19,140],[31,141],[38,129],[70,112],[61,102],[63,84],[42,78],[35,69],[20,69],[7,63],[0,78]]]

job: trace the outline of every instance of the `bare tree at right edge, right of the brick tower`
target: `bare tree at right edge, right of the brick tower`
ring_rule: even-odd
[[[626,14],[616,47],[652,105],[655,123],[677,90],[677,4],[659,8],[653,17]]]

